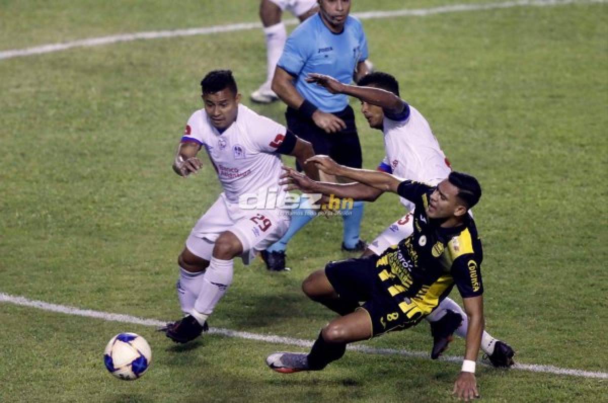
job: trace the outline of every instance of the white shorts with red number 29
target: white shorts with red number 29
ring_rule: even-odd
[[[258,251],[281,239],[289,228],[289,219],[285,210],[245,210],[227,201],[221,193],[196,222],[186,239],[186,247],[196,256],[211,260],[216,239],[221,233],[230,231],[243,245],[243,263],[249,264]]]

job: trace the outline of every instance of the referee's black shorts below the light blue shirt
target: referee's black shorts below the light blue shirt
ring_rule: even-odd
[[[313,120],[292,108],[287,108],[285,119],[289,130],[300,139],[311,142],[315,154],[328,155],[340,165],[361,168],[361,143],[354,125],[353,108],[348,105],[344,111],[334,112],[334,115],[346,123],[346,128],[337,133],[325,133]],[[296,167],[302,170],[299,164]]]

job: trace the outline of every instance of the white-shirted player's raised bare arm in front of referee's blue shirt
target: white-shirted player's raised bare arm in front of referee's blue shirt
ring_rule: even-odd
[[[406,107],[397,95],[390,91],[374,87],[360,87],[357,85],[342,84],[340,81],[325,74],[311,73],[306,77],[309,83],[317,83],[332,94],[346,94],[358,98],[371,105],[380,106],[387,112],[399,114]]]

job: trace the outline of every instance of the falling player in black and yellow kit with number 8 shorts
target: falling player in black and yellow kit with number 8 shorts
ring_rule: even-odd
[[[483,253],[468,213],[481,196],[477,180],[452,172],[432,187],[384,172],[347,168],[327,156],[314,156],[309,163],[327,174],[409,199],[416,206],[414,232],[380,256],[330,262],[306,278],[303,291],[343,316],[322,329],[309,354],[274,353],[268,365],[282,373],[321,370],[342,357],[348,343],[416,325],[455,285],[469,324],[454,393],[465,399],[478,396],[474,372],[484,326]],[[286,168],[285,177],[297,188],[298,173]]]

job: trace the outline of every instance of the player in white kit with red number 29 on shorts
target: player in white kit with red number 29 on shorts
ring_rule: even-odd
[[[232,283],[233,258],[249,264],[288,229],[289,215],[280,208],[286,195],[278,184],[280,154],[300,164],[314,155],[309,142],[240,104],[232,72],[210,72],[201,88],[204,109],[188,120],[173,170],[184,177],[196,173],[196,154],[204,148],[224,191],[196,222],[178,258],[178,297],[186,315],[163,328],[178,343],[208,328],[207,317]],[[316,168],[306,172],[318,179]]]

